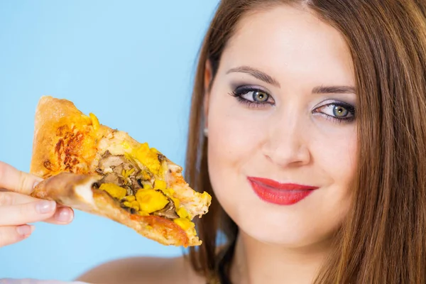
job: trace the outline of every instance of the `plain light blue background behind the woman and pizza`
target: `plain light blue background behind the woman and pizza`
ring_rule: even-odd
[[[192,77],[218,0],[0,0],[0,160],[28,171],[44,94],[182,165]],[[72,280],[127,256],[178,256],[120,224],[76,212],[0,248],[0,278]]]

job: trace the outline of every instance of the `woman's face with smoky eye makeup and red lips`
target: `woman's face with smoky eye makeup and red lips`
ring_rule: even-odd
[[[339,32],[278,6],[245,16],[207,96],[209,175],[258,241],[327,241],[350,205],[357,138],[354,71]]]

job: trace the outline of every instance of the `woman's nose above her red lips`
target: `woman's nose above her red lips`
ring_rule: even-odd
[[[295,114],[286,115],[270,124],[263,155],[280,167],[307,165],[311,153],[307,145],[308,129]]]

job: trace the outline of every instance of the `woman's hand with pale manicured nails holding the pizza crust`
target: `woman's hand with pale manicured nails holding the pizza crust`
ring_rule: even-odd
[[[0,248],[28,238],[34,226],[44,221],[68,224],[74,217],[70,207],[29,196],[42,179],[0,162]]]

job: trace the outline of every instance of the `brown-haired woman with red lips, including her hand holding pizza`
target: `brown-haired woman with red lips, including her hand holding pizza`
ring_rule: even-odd
[[[223,0],[200,53],[186,163],[214,200],[204,244],[80,280],[425,283],[425,62],[424,1]],[[35,178],[0,168],[1,187],[31,191]],[[3,245],[31,234],[27,222],[72,219],[1,197]]]

